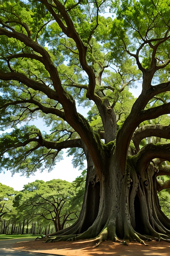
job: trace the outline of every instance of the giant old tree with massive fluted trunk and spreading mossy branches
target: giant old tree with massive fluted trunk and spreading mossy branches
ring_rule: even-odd
[[[0,166],[29,175],[82,149],[82,211],[56,240],[168,240],[157,176],[170,174],[170,0],[1,0],[0,10],[0,126],[13,128]],[[77,104],[93,105],[89,119]],[[29,125],[36,117],[51,133]]]

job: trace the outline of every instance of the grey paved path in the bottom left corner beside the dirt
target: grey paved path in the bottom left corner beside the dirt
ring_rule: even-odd
[[[13,244],[17,242],[22,241],[30,241],[35,240],[35,238],[20,238],[20,239],[8,239],[8,240],[0,240],[0,256],[49,256],[54,254],[42,254],[42,253],[36,253],[36,252],[23,252],[18,251],[14,249],[8,249],[11,248]],[[57,256],[57,255],[55,255]],[[63,256],[63,255],[58,255]]]

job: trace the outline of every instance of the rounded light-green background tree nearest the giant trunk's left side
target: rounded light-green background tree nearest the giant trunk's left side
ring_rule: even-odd
[[[24,213],[24,220],[31,217],[34,223],[32,229],[35,229],[36,222],[45,219],[48,225],[51,223],[55,231],[59,231],[66,223],[68,226],[73,224],[79,216],[82,202],[75,202],[76,192],[75,186],[70,182],[36,180],[24,185],[24,190],[18,194],[14,205],[18,204],[18,211]]]

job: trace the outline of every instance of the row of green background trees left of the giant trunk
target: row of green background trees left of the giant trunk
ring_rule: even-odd
[[[35,180],[22,191],[0,183],[0,234],[50,234],[71,226],[81,211],[86,171],[73,182]]]

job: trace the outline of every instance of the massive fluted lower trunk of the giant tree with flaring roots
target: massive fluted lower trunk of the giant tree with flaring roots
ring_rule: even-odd
[[[159,206],[158,170],[153,163],[141,170],[139,160],[140,157],[128,158],[126,172],[122,174],[119,160],[113,155],[100,181],[91,162],[79,219],[72,227],[48,236],[56,236],[56,241],[101,236],[103,240],[136,240],[144,244],[150,238],[168,240],[170,221]],[[105,231],[104,238],[102,231]]]

